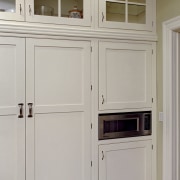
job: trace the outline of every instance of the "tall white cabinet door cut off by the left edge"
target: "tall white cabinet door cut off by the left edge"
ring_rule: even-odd
[[[25,179],[25,40],[0,38],[0,179]],[[22,107],[23,108],[23,107]]]

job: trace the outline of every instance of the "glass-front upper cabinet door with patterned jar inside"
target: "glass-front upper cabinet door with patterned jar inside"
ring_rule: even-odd
[[[26,20],[30,22],[90,26],[89,0],[29,0]]]

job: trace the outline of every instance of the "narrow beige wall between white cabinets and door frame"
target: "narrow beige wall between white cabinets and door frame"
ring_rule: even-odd
[[[180,0],[156,0],[157,1],[157,97],[158,112],[163,108],[162,89],[162,22],[180,15]],[[158,122],[158,179],[162,180],[162,123]]]

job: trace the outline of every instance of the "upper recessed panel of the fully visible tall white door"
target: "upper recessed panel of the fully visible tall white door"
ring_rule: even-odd
[[[36,46],[35,51],[35,104],[83,105],[83,49]]]

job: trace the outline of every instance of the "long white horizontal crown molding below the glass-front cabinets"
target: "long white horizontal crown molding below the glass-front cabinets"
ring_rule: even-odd
[[[39,36],[68,36],[82,38],[102,38],[115,40],[141,40],[141,41],[157,41],[157,36],[150,32],[113,31],[109,29],[90,29],[82,27],[67,27],[52,24],[28,23],[28,22],[10,22],[0,21],[0,33],[16,33]]]

